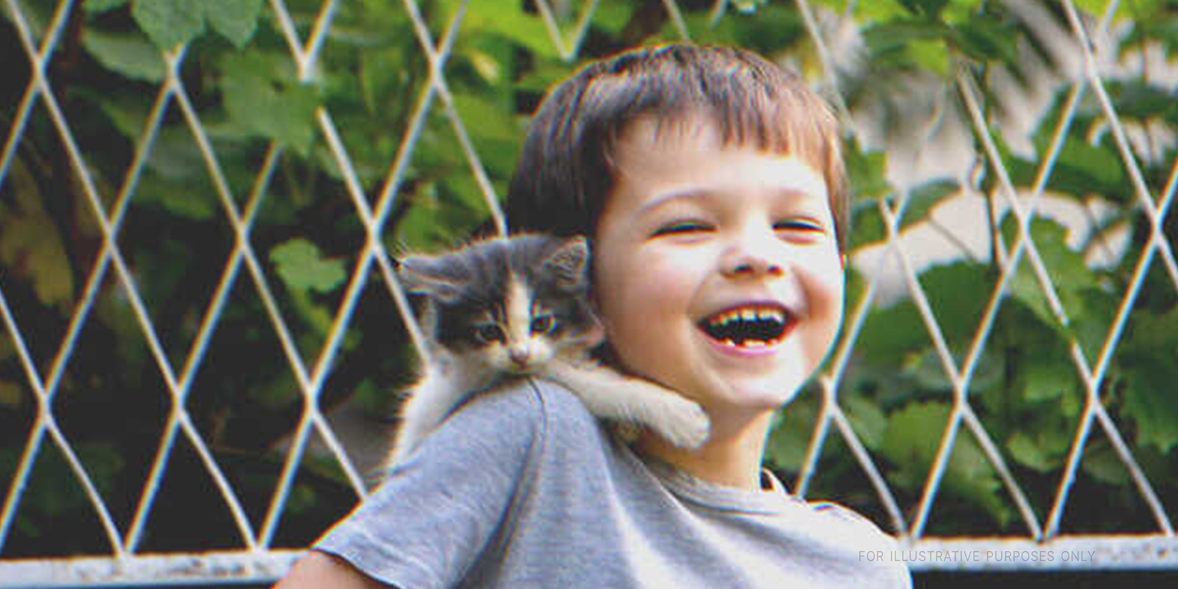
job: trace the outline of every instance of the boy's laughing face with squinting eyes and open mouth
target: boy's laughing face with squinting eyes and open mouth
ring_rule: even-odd
[[[594,279],[620,362],[699,402],[714,428],[789,401],[842,319],[822,176],[724,145],[696,118],[638,119],[614,157]]]

